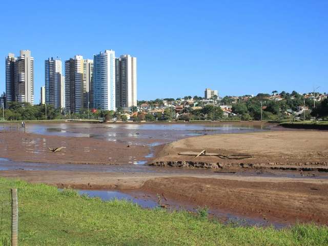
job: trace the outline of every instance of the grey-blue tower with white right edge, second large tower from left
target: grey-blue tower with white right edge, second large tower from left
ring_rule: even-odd
[[[63,72],[60,58],[45,60],[46,103],[54,108],[65,108]]]

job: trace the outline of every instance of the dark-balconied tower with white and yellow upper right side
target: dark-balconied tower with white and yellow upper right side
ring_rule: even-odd
[[[83,108],[83,56],[65,61],[65,111],[78,113]]]

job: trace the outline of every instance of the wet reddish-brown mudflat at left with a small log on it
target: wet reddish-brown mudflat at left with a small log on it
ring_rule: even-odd
[[[59,152],[48,148],[65,147]],[[90,137],[48,136],[32,133],[0,133],[0,157],[14,161],[44,163],[127,164],[149,153],[146,146]]]

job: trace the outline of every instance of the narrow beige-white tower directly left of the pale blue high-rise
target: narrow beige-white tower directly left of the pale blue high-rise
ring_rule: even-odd
[[[83,106],[93,107],[93,60],[83,61]]]

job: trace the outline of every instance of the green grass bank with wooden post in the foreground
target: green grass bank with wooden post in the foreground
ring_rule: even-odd
[[[104,202],[72,190],[0,178],[0,245],[10,238],[10,188],[18,188],[19,245],[328,245],[328,227],[224,226],[199,215]],[[8,245],[8,244],[7,244]]]

